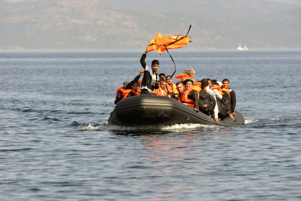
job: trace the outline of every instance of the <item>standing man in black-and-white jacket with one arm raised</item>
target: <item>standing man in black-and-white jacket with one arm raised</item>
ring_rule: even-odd
[[[159,76],[157,70],[159,68],[159,61],[153,60],[151,62],[151,67],[147,66],[145,63],[147,52],[142,54],[140,63],[144,68],[144,75],[141,83],[141,94],[152,94],[154,89],[160,87]]]

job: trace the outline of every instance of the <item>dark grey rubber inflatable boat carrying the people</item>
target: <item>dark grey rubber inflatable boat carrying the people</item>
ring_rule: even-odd
[[[225,117],[220,126],[244,125],[244,117],[235,111],[234,120]],[[196,112],[191,107],[169,97],[138,95],[120,100],[108,120],[109,125],[174,125],[174,124],[217,125],[210,116]]]

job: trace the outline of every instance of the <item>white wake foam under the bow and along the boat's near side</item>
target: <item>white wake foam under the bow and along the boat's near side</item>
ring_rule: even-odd
[[[98,125],[93,126],[88,124],[85,127],[79,128],[82,130],[98,130],[98,131],[141,131],[141,130],[156,130],[156,131],[181,131],[197,128],[219,128],[218,125],[203,125],[203,124],[175,124],[175,125],[135,125],[135,126],[118,126],[118,125]]]

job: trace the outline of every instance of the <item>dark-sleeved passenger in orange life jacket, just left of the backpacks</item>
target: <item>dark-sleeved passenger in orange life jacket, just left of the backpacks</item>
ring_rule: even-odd
[[[193,81],[186,79],[184,84],[186,89],[181,93],[180,102],[198,111],[199,93],[193,88]]]

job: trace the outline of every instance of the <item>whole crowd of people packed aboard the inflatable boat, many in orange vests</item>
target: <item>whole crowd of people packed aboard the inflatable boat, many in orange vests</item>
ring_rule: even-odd
[[[121,99],[140,94],[167,96],[193,108],[196,112],[203,112],[214,118],[217,124],[219,119],[233,115],[236,96],[229,88],[230,81],[223,79],[222,82],[216,79],[204,78],[194,81],[194,69],[186,69],[183,74],[175,76],[181,81],[174,83],[172,76],[158,74],[159,61],[153,60],[151,66],[145,63],[147,52],[144,52],[140,63],[144,70],[139,72],[131,82],[124,82],[123,87],[116,91],[115,104]],[[142,80],[139,80],[143,75]]]

